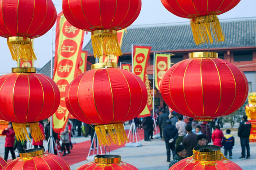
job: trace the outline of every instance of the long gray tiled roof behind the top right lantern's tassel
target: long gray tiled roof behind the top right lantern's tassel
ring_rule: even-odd
[[[220,20],[225,42],[209,43],[209,49],[232,49],[256,47],[256,17]],[[192,31],[187,23],[130,26],[124,34],[122,52],[130,53],[131,44],[154,44],[153,51],[191,51],[208,49],[208,44],[199,47],[194,43]],[[93,54],[91,41],[84,47]]]

